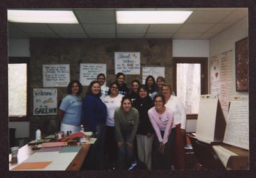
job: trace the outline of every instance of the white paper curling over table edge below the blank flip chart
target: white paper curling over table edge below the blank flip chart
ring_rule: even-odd
[[[221,163],[227,168],[228,159],[230,156],[237,156],[236,153],[229,151],[228,149],[225,149],[224,147],[221,147],[220,145],[214,145],[212,146],[213,150],[218,155],[218,158],[220,159]]]

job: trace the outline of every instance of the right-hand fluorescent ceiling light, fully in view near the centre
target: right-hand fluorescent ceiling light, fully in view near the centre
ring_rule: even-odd
[[[118,24],[182,24],[193,11],[116,11]]]

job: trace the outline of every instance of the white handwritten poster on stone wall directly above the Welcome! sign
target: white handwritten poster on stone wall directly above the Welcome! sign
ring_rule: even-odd
[[[67,87],[70,82],[69,64],[44,64],[44,87]]]

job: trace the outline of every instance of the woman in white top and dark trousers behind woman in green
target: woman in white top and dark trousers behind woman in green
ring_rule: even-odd
[[[108,96],[104,98],[104,103],[107,107],[108,116],[106,119],[106,153],[108,154],[109,164],[108,169],[115,167],[115,161],[117,156],[117,146],[114,134],[115,122],[114,113],[116,108],[120,107],[121,101],[124,95],[118,94],[119,87],[117,82],[113,82],[110,85]]]

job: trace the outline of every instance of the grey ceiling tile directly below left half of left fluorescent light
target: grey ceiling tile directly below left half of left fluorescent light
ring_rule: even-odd
[[[22,31],[33,33],[51,33],[51,29],[46,24],[32,24],[32,23],[13,23],[14,26],[19,27]]]

